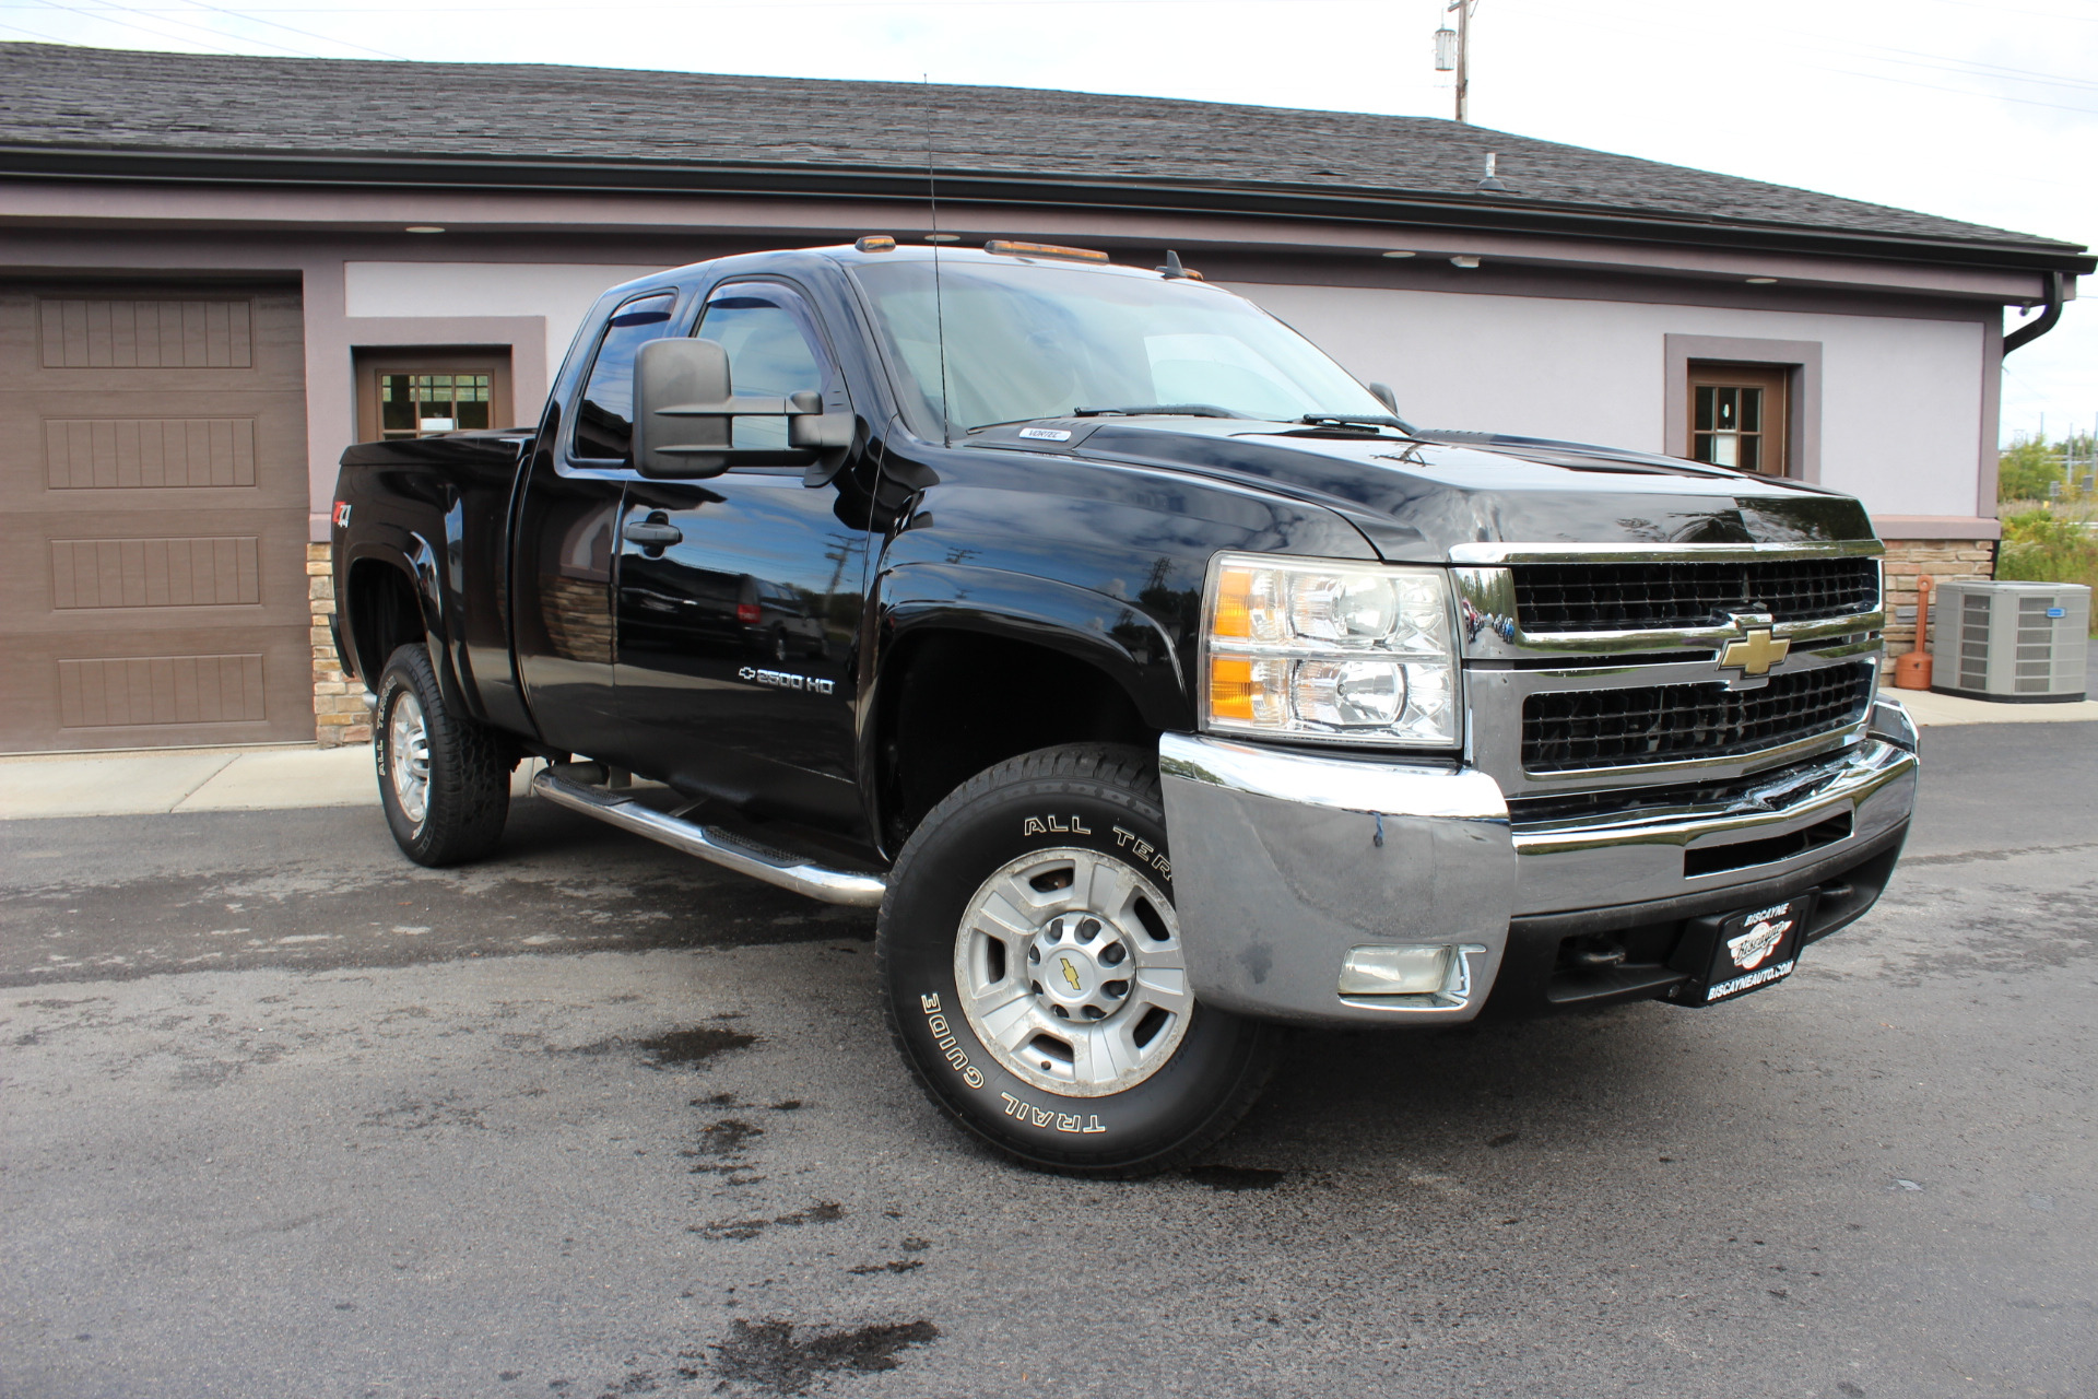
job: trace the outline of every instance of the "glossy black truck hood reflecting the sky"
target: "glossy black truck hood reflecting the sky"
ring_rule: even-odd
[[[1026,438],[1020,432],[1028,432]],[[1057,438],[1057,434],[1070,434]],[[1806,543],[1871,539],[1848,495],[1582,443],[1232,417],[1068,417],[986,428],[971,447],[1187,472],[1334,510],[1389,562],[1462,543]]]

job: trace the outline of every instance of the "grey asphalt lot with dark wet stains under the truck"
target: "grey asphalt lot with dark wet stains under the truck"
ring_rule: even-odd
[[[1297,1040],[1187,1175],[1011,1170],[869,914],[543,803],[0,822],[0,1393],[2094,1395],[2098,724],[1714,1011]]]

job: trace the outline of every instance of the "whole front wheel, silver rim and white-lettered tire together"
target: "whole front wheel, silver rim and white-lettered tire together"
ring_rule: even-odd
[[[919,1084],[1028,1166],[1185,1164],[1273,1070],[1273,1030],[1187,986],[1158,772],[1137,749],[1043,749],[946,797],[896,862],[879,961]]]

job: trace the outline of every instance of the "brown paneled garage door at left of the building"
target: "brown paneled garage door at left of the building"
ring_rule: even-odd
[[[0,751],[313,738],[287,287],[0,285]]]

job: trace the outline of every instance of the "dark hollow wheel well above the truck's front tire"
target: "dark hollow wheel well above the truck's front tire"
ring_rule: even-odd
[[[1104,667],[1055,646],[921,627],[881,665],[873,791],[894,856],[950,791],[1020,753],[1064,742],[1154,749],[1160,728]]]

